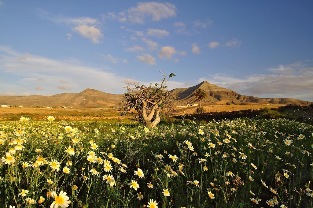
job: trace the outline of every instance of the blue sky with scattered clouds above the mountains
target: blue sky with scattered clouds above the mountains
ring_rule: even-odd
[[[0,0],[0,95],[175,77],[313,101],[313,1]]]

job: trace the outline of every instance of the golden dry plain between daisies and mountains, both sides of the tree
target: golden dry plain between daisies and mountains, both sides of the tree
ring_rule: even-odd
[[[205,112],[229,112],[249,109],[260,109],[264,107],[278,108],[280,104],[253,104],[253,105],[204,105]],[[196,107],[177,108],[177,115],[194,114]],[[19,119],[30,117],[41,119],[47,116],[60,117],[62,119],[119,119],[117,109],[113,108],[34,108],[34,107],[0,107],[0,119]]]

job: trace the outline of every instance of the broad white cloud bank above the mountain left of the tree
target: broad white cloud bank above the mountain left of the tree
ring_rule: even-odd
[[[108,66],[88,66],[73,59],[49,59],[43,56],[19,53],[8,47],[0,46],[0,74],[16,77],[16,82],[12,84],[18,86],[5,89],[15,89],[11,92],[17,94],[21,89],[33,90],[32,94],[36,93],[34,90],[37,86],[36,80],[43,79],[44,82],[40,86],[44,88],[42,91],[46,94],[62,92],[55,91],[59,88],[70,88],[71,91],[79,92],[88,86],[106,92],[122,93],[124,77],[111,71],[112,69]],[[27,77],[32,79],[21,81]],[[60,80],[68,83],[59,84]],[[2,93],[1,91],[3,89],[0,89],[0,93]]]

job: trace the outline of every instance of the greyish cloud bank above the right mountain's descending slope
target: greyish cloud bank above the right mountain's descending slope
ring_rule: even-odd
[[[277,68],[268,69],[275,74],[255,74],[240,78],[226,74],[213,74],[202,77],[199,81],[206,80],[243,95],[265,98],[291,97],[313,101],[313,68],[309,72],[303,70],[307,68],[310,67],[279,65]]]

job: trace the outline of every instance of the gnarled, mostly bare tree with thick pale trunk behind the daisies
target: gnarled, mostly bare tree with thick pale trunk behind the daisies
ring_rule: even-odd
[[[135,84],[135,87],[131,87],[129,84],[125,86],[127,93],[125,93],[125,99],[119,108],[123,109],[121,115],[125,115],[132,109],[137,111],[135,119],[142,122],[146,127],[152,128],[161,120],[161,113],[164,109],[167,112],[174,110],[174,103],[177,101],[177,93],[175,90],[168,91],[166,83],[175,74],[171,73],[169,77],[164,74],[164,71],[160,72],[162,74],[161,85],[155,83],[152,86],[139,86]]]

